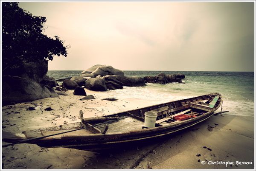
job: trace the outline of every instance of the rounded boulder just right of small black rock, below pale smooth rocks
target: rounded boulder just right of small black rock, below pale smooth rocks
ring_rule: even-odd
[[[89,78],[85,81],[85,85],[89,90],[93,91],[107,91],[108,88],[101,78]]]

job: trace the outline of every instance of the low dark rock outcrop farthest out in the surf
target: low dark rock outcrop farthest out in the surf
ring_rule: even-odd
[[[166,75],[165,73],[159,73],[156,76],[145,76],[143,79],[145,80],[146,83],[167,84],[172,82],[183,83],[182,79],[184,78],[184,74]]]

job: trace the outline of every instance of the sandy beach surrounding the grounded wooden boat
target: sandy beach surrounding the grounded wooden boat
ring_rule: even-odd
[[[96,99],[83,100],[73,95],[45,98],[2,108],[2,130],[22,132],[80,121],[84,117],[109,115],[158,104],[141,99],[111,98],[111,93],[86,90]],[[27,110],[29,106],[36,110]],[[53,110],[45,111],[51,107]],[[212,131],[209,131],[209,127]],[[2,144],[6,144],[2,142]],[[206,148],[204,148],[206,147]],[[200,154],[200,155],[199,155]],[[201,162],[205,161],[206,164]],[[234,162],[209,165],[208,161]],[[253,164],[239,165],[239,162]],[[3,169],[253,169],[254,118],[234,115],[212,116],[207,121],[159,140],[120,149],[91,152],[67,148],[41,148],[17,144],[2,148]]]

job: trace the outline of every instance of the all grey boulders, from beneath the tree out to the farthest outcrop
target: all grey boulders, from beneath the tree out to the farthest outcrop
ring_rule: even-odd
[[[128,77],[122,70],[106,65],[94,65],[81,72],[80,76],[55,80],[47,76],[48,62],[30,62],[15,72],[15,76],[3,76],[3,105],[24,101],[33,101],[47,97],[67,95],[67,90],[74,90],[74,95],[85,95],[84,88],[93,91],[122,89],[123,86],[145,86],[146,83],[166,84],[169,82],[183,83],[183,74],[157,76]],[[58,85],[57,81],[63,81]],[[92,98],[91,96],[88,98]],[[85,97],[87,99],[87,97]]]

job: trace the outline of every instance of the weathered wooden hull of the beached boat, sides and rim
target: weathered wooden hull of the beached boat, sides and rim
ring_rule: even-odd
[[[184,109],[184,105],[191,104],[191,102],[195,102],[198,100],[202,99],[207,99],[211,98],[213,101],[214,97],[218,96],[219,97],[219,102],[215,105],[214,108],[210,107],[204,107],[205,112],[202,115],[199,115],[195,118],[190,118],[185,121],[180,121],[180,122],[174,122],[174,123],[166,123],[166,124],[157,124],[156,127],[154,128],[148,128],[148,129],[135,129],[135,130],[126,130],[123,132],[110,132],[108,134],[101,134],[101,133],[91,133],[91,134],[80,134],[80,135],[72,135],[68,136],[63,134],[64,136],[60,137],[54,137],[54,136],[49,136],[49,137],[43,137],[39,139],[30,139],[29,141],[23,142],[23,143],[32,143],[32,144],[37,144],[38,146],[41,147],[65,147],[65,148],[73,148],[73,149],[83,149],[83,150],[88,150],[88,151],[98,151],[101,149],[109,149],[109,148],[116,148],[118,146],[125,146],[126,144],[137,144],[140,142],[145,142],[148,140],[153,140],[153,139],[158,139],[160,137],[165,137],[167,135],[171,135],[172,133],[178,132],[180,130],[189,128],[191,126],[194,126],[197,123],[200,123],[202,121],[205,121],[209,117],[211,117],[215,110],[217,110],[221,104],[222,104],[222,97],[219,93],[211,93],[209,95],[202,95],[194,98],[188,98],[188,99],[183,99],[180,101],[172,101],[168,103],[163,103],[163,104],[158,104],[150,107],[144,107],[140,109],[134,109],[130,111],[125,111],[125,112],[119,112],[111,116],[127,116],[131,117],[136,115],[137,119],[139,119],[143,123],[143,118],[140,118],[138,116],[144,115],[145,111],[152,111],[156,109],[161,109],[165,107],[175,107],[175,109]],[[188,105],[187,105],[188,106]],[[190,106],[189,106],[190,107]],[[195,106],[195,109],[198,110],[202,107]],[[173,108],[172,108],[173,109]],[[172,110],[171,109],[171,110]],[[182,111],[180,110],[180,111]],[[170,109],[169,109],[170,111]],[[185,111],[183,111],[185,112]],[[136,119],[135,117],[135,119]],[[143,116],[142,116],[143,117]],[[159,119],[161,120],[161,119]],[[78,123],[73,123],[76,125],[76,128],[81,126],[82,122]],[[94,126],[97,126],[97,122],[91,122]],[[98,123],[99,124],[99,123]],[[78,126],[78,127],[77,127]],[[42,131],[52,131],[52,130],[60,130],[64,129],[64,125],[62,126],[55,126],[47,129],[38,129],[38,130],[32,130],[30,132],[42,132]],[[68,130],[67,126],[66,129]],[[69,128],[70,129],[70,128]],[[80,129],[83,129],[80,128]],[[27,137],[28,138],[28,137]],[[2,138],[6,142],[13,143],[15,142],[14,138],[8,139],[3,137]],[[17,139],[16,139],[17,141]]]

